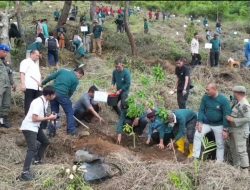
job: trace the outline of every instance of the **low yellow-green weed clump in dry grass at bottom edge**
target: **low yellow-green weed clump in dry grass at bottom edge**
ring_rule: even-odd
[[[168,174],[171,183],[179,190],[193,190],[192,180],[185,172],[173,171]]]

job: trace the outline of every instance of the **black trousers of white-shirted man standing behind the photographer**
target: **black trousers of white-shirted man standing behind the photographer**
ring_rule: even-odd
[[[24,113],[27,115],[31,102],[37,97],[41,96],[42,92],[39,90],[26,89],[24,92]]]

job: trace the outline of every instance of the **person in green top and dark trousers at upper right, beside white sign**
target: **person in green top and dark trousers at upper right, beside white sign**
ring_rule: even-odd
[[[217,67],[219,65],[219,57],[221,51],[221,42],[218,38],[218,34],[214,34],[214,38],[210,40],[212,49],[210,50],[210,65],[211,67]]]

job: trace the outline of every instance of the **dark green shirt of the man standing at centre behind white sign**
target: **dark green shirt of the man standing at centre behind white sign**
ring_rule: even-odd
[[[113,71],[112,84],[117,86],[117,90],[122,90],[123,92],[129,92],[131,85],[131,74],[128,69],[123,69],[123,71]]]

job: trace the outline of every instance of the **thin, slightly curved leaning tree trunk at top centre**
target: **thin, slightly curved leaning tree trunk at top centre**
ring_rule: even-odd
[[[137,55],[137,48],[135,45],[135,38],[132,32],[130,31],[129,23],[128,23],[128,10],[129,10],[129,1],[125,2],[125,17],[124,17],[124,25],[125,25],[125,30],[129,39],[129,43],[131,45],[131,50],[132,50],[132,55],[136,56]]]

